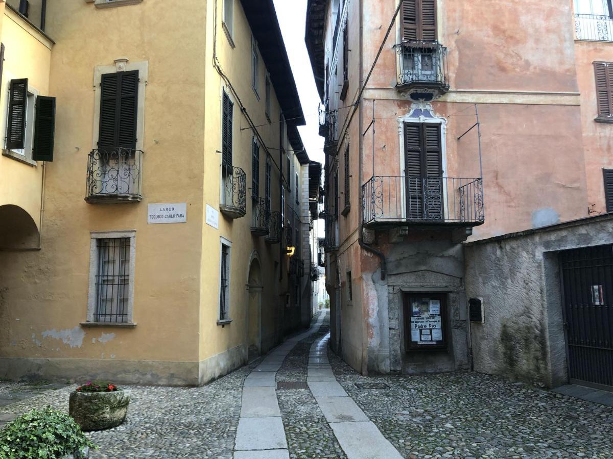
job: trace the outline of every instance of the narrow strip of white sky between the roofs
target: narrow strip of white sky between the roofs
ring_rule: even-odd
[[[273,0],[276,15],[281,25],[289,63],[298,87],[306,126],[298,128],[308,157],[324,163],[324,138],[318,135],[319,94],[315,87],[311,61],[305,45],[305,21],[307,20],[307,0]]]

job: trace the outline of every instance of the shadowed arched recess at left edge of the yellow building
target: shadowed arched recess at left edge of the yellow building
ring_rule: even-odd
[[[37,247],[39,230],[34,219],[19,206],[0,206],[0,249]]]

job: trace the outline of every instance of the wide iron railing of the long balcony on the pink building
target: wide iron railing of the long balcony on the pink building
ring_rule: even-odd
[[[362,206],[364,225],[477,226],[484,222],[483,182],[480,178],[374,176],[362,185]]]

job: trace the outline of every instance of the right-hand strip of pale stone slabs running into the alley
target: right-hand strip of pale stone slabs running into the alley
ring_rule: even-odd
[[[397,449],[338,384],[327,356],[330,334],[313,342],[307,384],[349,459],[402,459]]]

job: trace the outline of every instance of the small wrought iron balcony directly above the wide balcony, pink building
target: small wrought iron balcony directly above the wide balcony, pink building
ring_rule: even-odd
[[[438,42],[410,41],[395,45],[398,91],[413,100],[432,100],[449,91],[447,48]]]

